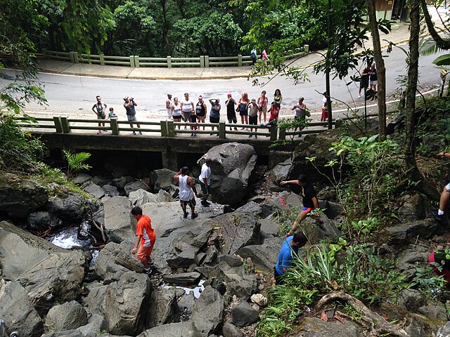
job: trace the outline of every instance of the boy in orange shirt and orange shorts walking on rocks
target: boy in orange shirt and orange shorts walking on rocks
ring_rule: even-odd
[[[150,218],[142,214],[141,207],[136,206],[134,209],[131,209],[131,215],[138,220],[138,223],[136,223],[136,244],[131,250],[131,253],[134,255],[137,251],[136,258],[143,264],[142,272],[144,274],[150,274],[155,265],[150,258],[156,241],[155,230],[152,228]],[[141,242],[141,246],[138,250],[139,242]]]

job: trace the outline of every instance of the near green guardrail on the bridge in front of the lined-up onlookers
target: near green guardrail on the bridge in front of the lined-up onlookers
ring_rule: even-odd
[[[301,131],[286,131],[274,126],[248,125],[248,124],[226,124],[225,121],[219,124],[212,123],[184,123],[170,120],[162,121],[133,121],[133,124],[140,124],[141,128],[131,128],[129,121],[119,121],[112,119],[78,119],[65,116],[54,117],[33,117],[32,121],[25,117],[17,117],[18,124],[22,128],[39,128],[56,133],[72,133],[72,131],[111,131],[114,136],[119,136],[124,132],[142,131],[152,133],[158,137],[176,137],[187,133],[198,133],[207,135],[218,135],[219,139],[226,139],[230,136],[259,136],[269,138],[269,140],[286,140],[289,136],[300,136],[308,133],[321,133],[327,131],[327,128],[308,128]],[[105,126],[98,126],[98,122],[105,123]],[[333,121],[335,125],[335,122]],[[178,126],[180,128],[178,128]],[[184,128],[186,126],[186,129]],[[191,130],[191,126],[197,126],[197,130]],[[214,126],[215,130],[211,128]],[[233,127],[232,130],[227,128]],[[328,126],[327,122],[311,122],[308,127]],[[203,128],[205,127],[205,130]],[[207,128],[207,129],[206,129]],[[234,130],[234,128],[246,128],[244,130]],[[255,129],[250,131],[249,129]],[[47,131],[47,132],[49,132]]]

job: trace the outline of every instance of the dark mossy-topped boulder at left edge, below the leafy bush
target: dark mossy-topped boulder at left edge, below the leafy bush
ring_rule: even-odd
[[[46,189],[36,180],[13,173],[0,174],[0,211],[8,213],[11,218],[27,218],[48,199]]]

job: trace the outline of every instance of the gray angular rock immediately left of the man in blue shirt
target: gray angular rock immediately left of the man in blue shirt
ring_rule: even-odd
[[[265,239],[263,244],[245,246],[236,251],[236,254],[242,258],[251,258],[256,270],[271,272],[274,270],[276,259],[278,258],[278,253],[282,245],[283,238],[274,237]]]

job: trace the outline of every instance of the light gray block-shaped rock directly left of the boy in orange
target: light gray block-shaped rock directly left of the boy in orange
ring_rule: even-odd
[[[105,200],[105,232],[111,241],[120,243],[135,237],[136,220],[131,217],[131,202],[127,197]]]

